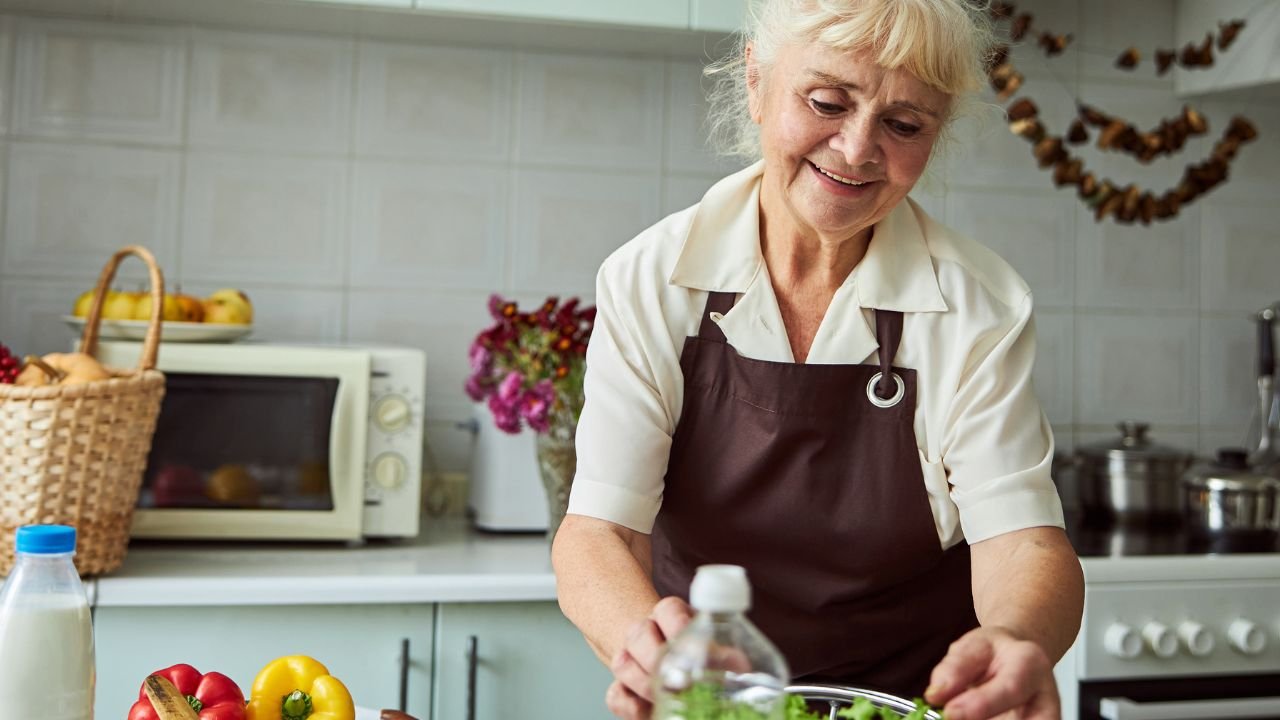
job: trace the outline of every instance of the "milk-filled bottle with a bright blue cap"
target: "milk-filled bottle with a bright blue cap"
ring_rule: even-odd
[[[92,720],[93,626],[72,564],[76,528],[18,528],[0,589],[0,717]]]

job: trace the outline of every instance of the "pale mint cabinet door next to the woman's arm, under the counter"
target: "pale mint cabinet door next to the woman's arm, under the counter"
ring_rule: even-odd
[[[612,675],[554,602],[442,603],[435,642],[435,719],[609,715]]]

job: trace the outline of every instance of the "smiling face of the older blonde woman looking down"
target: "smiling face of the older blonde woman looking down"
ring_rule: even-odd
[[[905,69],[817,44],[780,49],[749,87],[767,222],[819,237],[854,237],[902,200],[924,172],[950,102]],[[785,217],[773,217],[780,210]]]

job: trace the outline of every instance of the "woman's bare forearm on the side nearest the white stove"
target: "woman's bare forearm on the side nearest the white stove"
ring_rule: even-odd
[[[975,543],[973,601],[978,621],[1036,642],[1057,662],[1075,642],[1084,575],[1066,533],[1028,528]]]

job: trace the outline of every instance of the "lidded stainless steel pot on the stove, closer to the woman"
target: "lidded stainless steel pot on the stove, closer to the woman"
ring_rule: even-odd
[[[1151,442],[1147,423],[1116,427],[1119,438],[1075,451],[1080,510],[1094,521],[1179,523],[1183,505],[1178,482],[1190,466],[1192,454]]]

